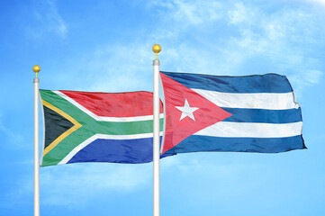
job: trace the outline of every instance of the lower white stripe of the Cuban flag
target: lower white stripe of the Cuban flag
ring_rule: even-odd
[[[284,138],[302,134],[302,121],[294,123],[247,123],[221,121],[194,135],[212,137]]]

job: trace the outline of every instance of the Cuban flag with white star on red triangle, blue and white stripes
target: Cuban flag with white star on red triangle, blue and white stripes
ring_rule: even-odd
[[[305,148],[301,108],[285,76],[160,72],[162,152],[277,153]]]

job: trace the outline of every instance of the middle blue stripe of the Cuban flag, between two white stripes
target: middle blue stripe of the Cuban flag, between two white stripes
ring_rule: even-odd
[[[300,107],[290,110],[221,108],[232,114],[223,121],[257,123],[292,123],[302,121],[302,110]]]

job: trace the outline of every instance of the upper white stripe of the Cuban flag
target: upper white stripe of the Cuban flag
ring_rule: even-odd
[[[297,109],[299,104],[295,102],[294,94],[291,93],[221,93],[203,89],[192,89],[197,94],[220,107],[287,110]]]

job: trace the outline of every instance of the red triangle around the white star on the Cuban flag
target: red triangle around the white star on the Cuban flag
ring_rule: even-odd
[[[199,130],[203,130],[231,116],[201,94],[176,82],[174,79],[160,73],[164,87],[166,106],[166,130],[162,153],[175,147],[178,143]],[[182,112],[176,106],[185,106],[187,100],[190,107],[198,108],[193,112],[194,120],[186,116],[181,120]]]

